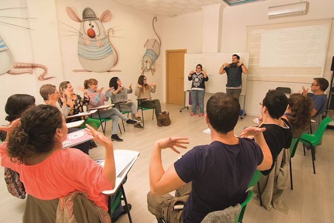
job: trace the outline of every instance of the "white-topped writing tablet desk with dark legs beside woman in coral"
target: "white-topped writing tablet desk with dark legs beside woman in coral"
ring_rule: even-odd
[[[123,151],[123,150],[122,150]],[[130,215],[130,210],[128,207],[128,201],[125,197],[125,192],[124,192],[124,187],[123,187],[123,181],[125,179],[125,177],[128,175],[130,169],[132,168],[133,164],[135,164],[136,160],[138,159],[139,156],[139,152],[138,151],[132,151],[132,150],[124,150],[125,153],[132,153],[134,155],[136,155],[136,157],[132,160],[132,162],[126,166],[126,168],[119,174],[119,176],[116,177],[116,181],[115,181],[115,188],[113,190],[105,190],[102,191],[103,194],[108,196],[108,212],[110,213],[111,211],[111,206],[113,205],[111,203],[111,196],[116,194],[117,190],[119,188],[121,188],[122,194],[123,194],[123,198],[124,198],[124,203],[125,203],[125,210],[128,213],[128,217],[129,217],[129,222],[132,223],[132,219],[131,219],[131,215]]]

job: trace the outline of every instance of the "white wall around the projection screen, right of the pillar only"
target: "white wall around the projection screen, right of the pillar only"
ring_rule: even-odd
[[[333,0],[308,0],[309,11],[304,16],[268,19],[268,7],[296,3],[295,0],[267,0],[233,7],[226,7],[222,20],[222,52],[237,52],[246,50],[247,26],[266,25],[275,23],[288,23],[315,19],[328,19],[333,17]],[[235,34],[237,33],[237,34]],[[334,29],[332,27],[332,40]],[[330,65],[334,55],[333,41],[330,43],[327,53],[324,76],[330,79]],[[310,83],[312,80],[309,81]],[[283,82],[260,82],[247,81],[246,112],[256,115],[259,113],[259,102],[264,98],[269,89],[276,87],[290,87],[293,92],[299,90],[302,85],[310,83],[283,83]]]

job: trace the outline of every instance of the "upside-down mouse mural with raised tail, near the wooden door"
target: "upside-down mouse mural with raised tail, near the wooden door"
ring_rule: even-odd
[[[154,21],[157,21],[157,17],[153,18],[152,27],[159,41],[157,39],[147,39],[146,40],[144,44],[144,47],[146,47],[146,51],[142,59],[142,75],[144,75],[144,72],[148,72],[148,71],[151,71],[153,75],[156,69],[158,68],[158,66],[161,66],[160,64],[156,63],[156,60],[158,59],[160,55],[161,39],[159,37],[159,34],[154,28]]]

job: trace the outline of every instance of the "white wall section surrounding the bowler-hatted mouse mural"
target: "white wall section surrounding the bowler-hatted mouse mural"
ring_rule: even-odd
[[[148,38],[156,38],[156,35],[152,28],[152,19],[154,15],[144,13],[142,11],[133,9],[122,4],[109,1],[109,0],[57,0],[57,19],[60,22],[66,23],[76,29],[80,28],[80,24],[71,20],[66,11],[66,6],[75,8],[78,12],[80,19],[82,19],[82,11],[86,7],[93,9],[97,17],[109,9],[112,13],[112,18],[109,22],[104,23],[105,29],[115,27],[114,35],[121,38],[111,37],[110,40],[114,44],[118,54],[119,62],[113,67],[113,69],[120,69],[122,72],[79,72],[75,73],[73,69],[83,69],[79,63],[77,56],[77,36],[64,36],[71,34],[65,30],[73,30],[64,24],[59,23],[59,40],[61,48],[61,59],[63,64],[64,80],[68,80],[72,83],[73,87],[83,86],[83,81],[89,78],[95,78],[99,81],[99,87],[105,89],[109,87],[109,81],[112,77],[117,76],[121,79],[124,86],[128,87],[132,83],[133,89],[135,88],[138,77],[141,74],[141,62],[146,48],[144,43]],[[157,32],[162,37],[163,20],[158,17],[155,27]],[[75,33],[73,33],[75,34]],[[162,40],[163,42],[163,40]],[[163,83],[162,83],[162,51],[160,57],[156,61],[161,68],[151,74],[151,72],[145,73],[148,78],[148,82],[155,82],[157,84],[157,91],[152,96],[154,98],[162,99]],[[82,94],[79,91],[76,91]],[[129,98],[135,99],[134,94],[129,95]]]

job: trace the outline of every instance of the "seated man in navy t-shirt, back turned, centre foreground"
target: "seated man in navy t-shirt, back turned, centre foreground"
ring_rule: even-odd
[[[195,146],[165,172],[161,150],[186,148],[187,138],[169,137],[155,142],[149,165],[148,210],[167,222],[201,222],[209,212],[223,210],[244,200],[256,169],[267,170],[272,155],[263,137],[265,128],[248,127],[234,136],[240,105],[236,98],[216,93],[206,104],[205,120],[211,131],[210,145]],[[198,130],[200,131],[200,130]],[[175,197],[167,194],[176,190]],[[174,210],[174,205],[185,204]]]

